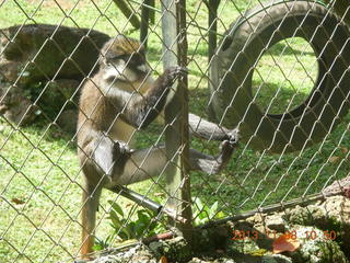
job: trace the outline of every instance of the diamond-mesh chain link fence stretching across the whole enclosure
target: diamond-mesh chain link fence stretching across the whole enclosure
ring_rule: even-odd
[[[327,195],[349,171],[342,3],[1,1],[0,262]]]

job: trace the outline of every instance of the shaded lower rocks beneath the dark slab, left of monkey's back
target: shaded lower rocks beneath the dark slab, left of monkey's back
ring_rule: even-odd
[[[3,98],[0,114],[16,125],[28,125],[40,114],[54,122],[65,106],[57,123],[63,130],[74,133],[78,99],[72,95],[79,84],[77,80],[66,79],[50,81],[47,85],[45,82],[27,85],[0,83],[0,95]],[[67,103],[71,98],[72,102]]]

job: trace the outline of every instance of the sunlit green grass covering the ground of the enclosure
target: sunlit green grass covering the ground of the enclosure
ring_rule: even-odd
[[[45,1],[42,5],[38,0],[3,1],[0,5],[1,26],[35,21],[93,27],[109,35],[131,28],[109,1],[93,3],[83,0],[72,12],[69,10],[74,7],[73,1],[57,2],[62,9],[55,1]],[[208,69],[205,38],[207,12],[202,1],[187,2],[191,22],[188,30],[189,108],[206,117],[209,100],[205,77]],[[219,32],[223,33],[240,12],[254,4],[255,1],[223,0],[219,8]],[[155,22],[159,21],[160,14],[156,14]],[[159,24],[152,26],[149,39],[149,58],[158,70],[162,69],[160,32]],[[131,33],[131,36],[137,37],[138,32]],[[262,111],[268,108],[269,113],[276,114],[283,112],[293,95],[294,106],[307,96],[317,68],[312,48],[302,39],[279,43],[270,53],[273,56],[264,56],[257,66],[254,94]],[[299,54],[299,62],[294,54]],[[270,105],[270,98],[276,92],[279,92],[277,99]],[[192,196],[208,204],[219,201],[225,214],[230,215],[283,198],[316,193],[328,179],[343,178],[349,171],[348,122],[349,117],[323,145],[315,145],[302,152],[271,156],[242,145],[223,173],[211,178],[191,173]],[[154,144],[161,128],[154,124],[148,133],[139,135],[137,148]],[[16,129],[5,119],[1,121],[0,262],[57,262],[78,253],[81,176],[75,147],[70,139],[71,136],[47,126],[47,123]],[[191,146],[209,153],[218,151],[215,142],[195,139]],[[149,181],[136,184],[132,188],[160,202],[166,197],[162,180],[155,185]],[[97,231],[102,239],[110,233],[107,220],[103,219],[108,209],[107,199],[115,198],[107,192],[102,197],[103,205],[98,213],[102,221]],[[118,202],[126,209],[130,207],[130,202],[126,199],[118,198]]]

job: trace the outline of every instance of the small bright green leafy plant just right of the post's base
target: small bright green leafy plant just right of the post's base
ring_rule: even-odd
[[[218,206],[218,201],[209,207],[207,204],[203,205],[200,198],[192,198],[195,226],[203,225],[212,219],[224,217],[224,213]]]

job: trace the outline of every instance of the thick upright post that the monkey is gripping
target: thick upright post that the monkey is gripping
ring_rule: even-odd
[[[187,38],[186,38],[186,0],[162,1],[162,33],[164,68],[179,65],[187,66]],[[191,243],[191,206],[190,206],[190,181],[186,160],[188,160],[188,93],[187,78],[178,80],[173,87],[176,90],[173,100],[165,108],[166,155],[173,158],[166,170],[166,182],[171,199],[168,207],[175,209],[185,224],[175,224],[184,238]]]

